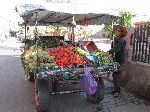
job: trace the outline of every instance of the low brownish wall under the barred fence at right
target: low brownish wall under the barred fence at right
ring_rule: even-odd
[[[133,62],[131,56],[132,49],[130,49],[129,60],[123,68],[122,86],[139,96],[150,99],[150,64]]]

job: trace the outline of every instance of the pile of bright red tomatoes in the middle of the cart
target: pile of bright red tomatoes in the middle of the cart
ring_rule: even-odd
[[[83,64],[85,59],[73,53],[71,45],[60,46],[57,48],[46,50],[50,56],[54,56],[54,60],[58,66],[69,66],[74,63]]]

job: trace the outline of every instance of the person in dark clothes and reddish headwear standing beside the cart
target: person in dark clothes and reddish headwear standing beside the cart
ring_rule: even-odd
[[[125,64],[126,58],[126,30],[122,26],[117,26],[115,30],[115,40],[113,47],[108,51],[109,54],[114,54],[115,61],[118,62],[121,67]],[[115,71],[112,74],[114,90],[112,94],[114,97],[118,97],[120,93],[120,78],[121,78],[121,70]]]

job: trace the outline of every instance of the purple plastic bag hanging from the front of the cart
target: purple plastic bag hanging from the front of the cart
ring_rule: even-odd
[[[93,78],[93,75],[90,73],[89,68],[85,65],[84,75],[80,81],[80,87],[87,95],[92,95],[97,90],[97,82]]]

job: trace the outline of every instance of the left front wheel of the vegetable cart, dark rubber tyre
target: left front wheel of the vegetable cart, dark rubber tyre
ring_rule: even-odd
[[[35,106],[37,112],[48,112],[49,110],[49,89],[46,80],[35,82]]]

